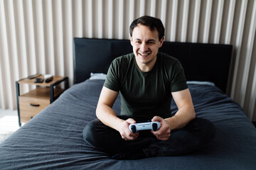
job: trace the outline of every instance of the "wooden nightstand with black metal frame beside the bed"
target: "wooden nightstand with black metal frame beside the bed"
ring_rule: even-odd
[[[36,78],[43,78],[43,75]],[[53,103],[60,94],[68,89],[68,77],[53,76],[53,80],[46,83],[34,83],[35,79],[20,79],[16,81],[16,97],[18,110],[18,125],[26,123],[44,108]],[[64,89],[57,88],[56,85],[64,83]],[[20,84],[33,84],[36,89],[20,94]]]

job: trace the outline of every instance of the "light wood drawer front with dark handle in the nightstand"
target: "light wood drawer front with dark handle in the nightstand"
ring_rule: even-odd
[[[50,100],[19,96],[21,122],[26,123],[50,105]]]

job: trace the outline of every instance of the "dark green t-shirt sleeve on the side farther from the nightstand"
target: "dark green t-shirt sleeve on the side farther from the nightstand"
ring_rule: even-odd
[[[182,91],[188,89],[186,77],[180,62],[175,62],[171,73],[171,92]]]

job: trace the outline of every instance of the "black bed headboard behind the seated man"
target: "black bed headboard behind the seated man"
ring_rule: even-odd
[[[212,81],[226,91],[232,45],[164,42],[159,51],[181,62],[188,81]],[[107,73],[114,58],[130,52],[129,40],[74,38],[74,83],[85,81],[91,72]]]

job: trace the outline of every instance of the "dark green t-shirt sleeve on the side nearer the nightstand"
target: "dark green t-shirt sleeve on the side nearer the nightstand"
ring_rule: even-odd
[[[110,64],[104,86],[107,87],[107,89],[111,89],[113,91],[120,90],[121,84],[119,81],[119,64],[117,60],[113,60]]]

